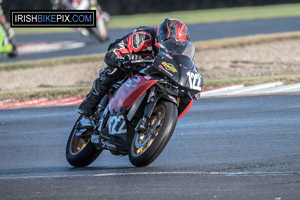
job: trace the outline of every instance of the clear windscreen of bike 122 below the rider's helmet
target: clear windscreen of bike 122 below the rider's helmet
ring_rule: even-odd
[[[195,47],[190,41],[178,42],[176,40],[167,40],[160,44],[161,51],[172,55],[185,55],[191,60],[195,56]]]

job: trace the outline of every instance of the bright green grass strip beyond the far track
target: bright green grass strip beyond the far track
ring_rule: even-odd
[[[135,28],[137,26],[157,26],[166,17],[177,18],[186,24],[227,22],[238,20],[268,19],[300,16],[300,3],[272,6],[219,8],[164,13],[112,16],[109,29]],[[70,28],[15,28],[17,34],[49,33],[73,31]]]

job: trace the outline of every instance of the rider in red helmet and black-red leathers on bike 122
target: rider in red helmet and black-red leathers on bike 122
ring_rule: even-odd
[[[178,42],[190,40],[188,27],[177,19],[166,18],[158,27],[138,27],[132,33],[117,39],[108,47],[104,61],[107,66],[97,78],[91,91],[78,108],[78,113],[91,116],[111,85],[120,81],[127,73],[125,61],[153,58],[157,54],[156,44],[174,39]]]

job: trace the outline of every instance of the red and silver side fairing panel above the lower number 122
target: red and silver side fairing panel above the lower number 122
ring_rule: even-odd
[[[109,110],[118,112],[121,107],[128,110],[155,83],[157,83],[157,80],[148,80],[147,77],[145,78],[139,74],[128,78],[110,100]]]

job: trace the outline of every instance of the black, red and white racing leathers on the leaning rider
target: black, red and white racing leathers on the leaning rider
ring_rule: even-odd
[[[93,87],[86,99],[81,103],[78,112],[90,116],[95,112],[102,97],[107,94],[109,87],[121,80],[126,71],[121,70],[122,59],[127,54],[137,54],[142,58],[154,57],[155,27],[139,27],[132,33],[117,39],[108,47],[104,61],[108,65],[104,72],[94,81]]]

